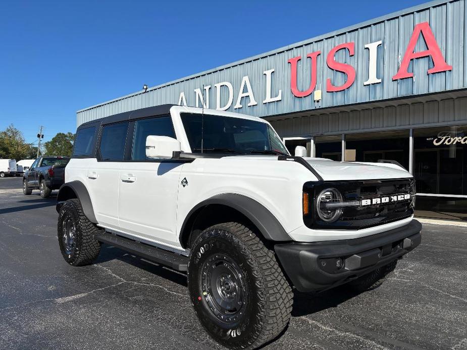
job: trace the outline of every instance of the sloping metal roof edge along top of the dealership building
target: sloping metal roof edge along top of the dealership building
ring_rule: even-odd
[[[227,69],[227,68],[230,68],[230,67],[238,66],[238,65],[250,62],[250,61],[259,60],[259,59],[262,59],[264,57],[267,57],[267,56],[270,56],[270,55],[273,55],[273,54],[277,54],[279,52],[287,51],[287,50],[293,49],[293,48],[298,47],[298,46],[303,46],[303,45],[306,45],[308,43],[324,40],[324,39],[329,38],[329,37],[333,37],[333,36],[336,36],[336,35],[339,35],[339,34],[343,34],[343,33],[358,29],[358,28],[367,27],[367,26],[372,25],[372,24],[384,22],[384,21],[387,21],[389,19],[393,19],[393,18],[402,16],[402,15],[405,15],[405,14],[408,14],[408,13],[425,10],[427,8],[436,7],[436,6],[440,6],[442,4],[447,4],[447,3],[451,3],[451,2],[455,2],[455,1],[456,0],[432,0],[432,1],[427,2],[427,3],[412,6],[412,7],[403,9],[403,10],[392,12],[392,13],[387,14],[387,15],[383,15],[383,16],[380,16],[380,17],[376,17],[376,18],[364,21],[364,22],[360,22],[360,23],[357,23],[357,24],[354,24],[354,25],[351,25],[351,26],[348,26],[348,27],[345,27],[345,28],[341,28],[341,29],[337,29],[337,30],[332,31],[332,32],[321,34],[321,35],[315,36],[315,37],[310,38],[310,39],[305,39],[305,40],[298,41],[298,42],[295,42],[295,43],[290,44],[290,45],[282,46],[282,47],[279,47],[279,48],[276,48],[276,49],[273,49],[273,50],[270,50],[270,51],[267,51],[267,52],[263,52],[263,53],[260,53],[260,54],[254,55],[254,56],[250,56],[250,57],[247,57],[246,59],[242,59],[242,60],[235,61],[235,62],[226,64],[226,65],[222,65],[222,66],[219,66],[219,67],[216,67],[216,68],[212,68],[210,70],[202,71],[200,73],[195,73],[195,74],[183,77],[183,78],[175,79],[175,80],[172,80],[172,81],[167,82],[167,83],[156,85],[156,86],[148,88],[146,92],[149,92],[149,91],[152,91],[152,90],[157,90],[157,89],[169,86],[169,85],[174,85],[174,84],[177,84],[177,83],[181,83],[181,82],[186,81],[186,80],[202,77],[203,75],[207,75],[207,74],[210,74],[210,73],[221,71],[221,70],[224,70],[224,69]],[[137,96],[137,95],[140,95],[140,94],[143,94],[143,93],[145,93],[144,90],[139,90],[139,91],[130,93],[128,95],[124,95],[124,96],[121,96],[121,97],[114,98],[114,99],[106,101],[106,102],[101,102],[101,103],[98,103],[98,104],[95,104],[95,105],[92,105],[92,106],[89,106],[89,107],[86,107],[86,108],[79,109],[79,110],[76,111],[76,113],[84,112],[84,111],[89,110],[89,109],[100,107],[100,106],[103,106],[103,105],[106,105],[106,104],[109,104],[109,103],[120,101],[120,100],[123,100],[125,98],[129,98],[129,97],[132,97],[132,96]]]

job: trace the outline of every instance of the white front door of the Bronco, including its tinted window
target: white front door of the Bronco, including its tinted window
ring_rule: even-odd
[[[121,164],[119,225],[150,241],[178,246],[175,232],[177,193],[183,162],[146,158],[146,137],[175,138],[169,115],[132,122],[129,159]]]

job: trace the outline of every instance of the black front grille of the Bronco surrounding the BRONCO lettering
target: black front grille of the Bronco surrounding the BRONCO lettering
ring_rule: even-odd
[[[373,203],[375,198],[382,200],[383,197],[406,194],[411,196],[405,200],[343,207],[342,215],[337,221],[326,222],[316,213],[316,197],[327,188],[338,189],[344,202],[361,203],[362,200],[370,200]],[[303,191],[314,199],[313,202],[310,201],[313,203],[309,210],[311,214],[303,217],[304,223],[310,228],[359,229],[400,220],[413,214],[413,179],[306,183]]]

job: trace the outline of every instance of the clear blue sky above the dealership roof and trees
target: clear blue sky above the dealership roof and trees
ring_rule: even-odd
[[[423,0],[4,2],[0,130],[75,132],[76,110]]]

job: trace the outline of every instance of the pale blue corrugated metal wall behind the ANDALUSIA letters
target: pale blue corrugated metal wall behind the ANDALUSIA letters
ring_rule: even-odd
[[[302,57],[302,60],[298,63],[298,87],[301,90],[306,90],[310,81],[310,60],[305,60],[305,57],[307,53],[318,50],[322,53],[318,56],[317,88],[321,86],[323,90],[323,99],[318,107],[339,106],[465,88],[467,87],[467,69],[464,68],[467,61],[467,45],[465,42],[467,38],[464,34],[465,19],[464,0],[434,1],[418,6],[409,12],[388,15],[374,21],[362,23],[358,27],[345,28],[285,48],[250,57],[250,59],[232,65],[154,87],[146,93],[138,92],[80,110],[77,113],[77,124],[137,108],[164,103],[178,103],[181,92],[185,93],[188,105],[195,105],[194,89],[202,88],[203,85],[211,86],[209,105],[211,108],[215,108],[216,90],[214,84],[224,81],[228,81],[233,85],[234,100],[232,106],[228,109],[230,111],[256,116],[270,116],[313,110],[316,108],[313,95],[297,98],[291,93],[290,65],[287,61],[291,57]],[[410,63],[409,72],[414,73],[413,79],[392,81],[392,77],[398,70],[401,57],[405,53],[414,26],[422,22],[429,22],[446,62],[453,67],[452,71],[428,75],[427,70],[432,68],[433,63],[429,57],[425,57],[413,60]],[[365,45],[378,40],[383,41],[383,45],[378,47],[377,60],[377,74],[379,78],[382,78],[382,83],[364,86],[364,82],[368,79],[369,69],[368,50],[365,49]],[[341,85],[345,81],[345,74],[327,67],[326,56],[334,46],[352,41],[355,42],[355,54],[350,57],[348,51],[340,50],[336,54],[336,60],[351,64],[355,68],[355,82],[345,91],[326,93],[327,78],[331,78],[334,85]],[[420,38],[416,51],[423,50],[425,47],[423,38]],[[275,96],[277,91],[281,89],[282,100],[264,104],[262,102],[266,97],[266,77],[263,72],[269,69],[275,69],[272,94]],[[234,109],[242,77],[244,76],[249,77],[257,105],[247,107],[248,98],[244,98],[242,101],[243,107]],[[224,104],[228,99],[227,89],[223,88],[221,91],[221,100],[223,101],[222,104]],[[359,123],[362,125],[375,123],[384,126],[385,123],[393,123],[390,118],[385,118],[388,112],[384,110],[374,111],[371,116],[365,113],[367,112],[360,115]],[[329,115],[329,119],[329,123],[324,124],[331,126],[334,125],[334,122],[331,122],[334,120],[344,123],[345,117]],[[350,122],[349,119],[348,123],[354,122]]]

